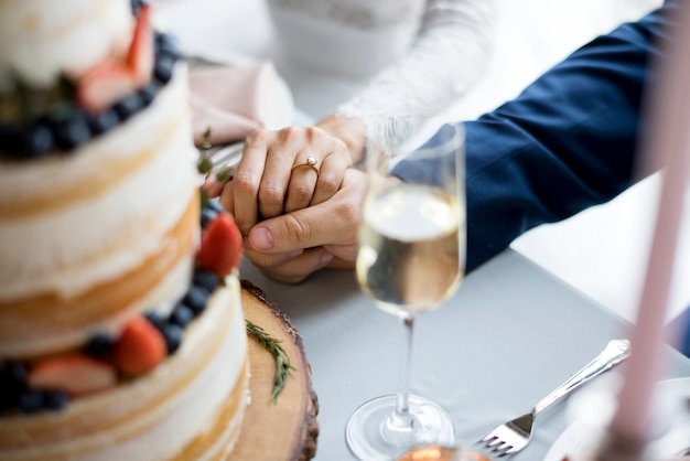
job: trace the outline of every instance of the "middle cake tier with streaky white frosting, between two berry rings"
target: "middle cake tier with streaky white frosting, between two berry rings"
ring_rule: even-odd
[[[0,260],[11,261],[0,265],[0,357],[76,347],[187,289],[200,179],[183,71],[77,151],[0,160]]]

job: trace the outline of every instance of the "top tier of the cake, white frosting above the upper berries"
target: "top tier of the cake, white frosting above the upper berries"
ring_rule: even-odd
[[[82,75],[129,45],[133,19],[122,0],[0,0],[0,93],[17,78],[50,87]]]

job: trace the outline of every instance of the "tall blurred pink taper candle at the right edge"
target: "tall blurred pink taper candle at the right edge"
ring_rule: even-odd
[[[651,94],[651,132],[643,153],[665,167],[654,242],[647,265],[632,355],[608,427],[613,444],[642,447],[649,435],[654,385],[662,362],[664,324],[690,171],[690,3],[681,2],[668,58]]]

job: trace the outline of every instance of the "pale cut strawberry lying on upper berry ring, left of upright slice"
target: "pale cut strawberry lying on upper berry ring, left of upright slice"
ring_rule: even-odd
[[[105,61],[79,78],[77,103],[86,110],[97,112],[134,89],[134,79],[127,66],[117,61]]]

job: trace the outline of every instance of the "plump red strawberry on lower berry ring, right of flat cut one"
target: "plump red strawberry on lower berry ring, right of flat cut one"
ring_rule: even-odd
[[[165,360],[168,349],[159,330],[143,317],[131,319],[115,343],[115,366],[127,376],[139,376]]]

